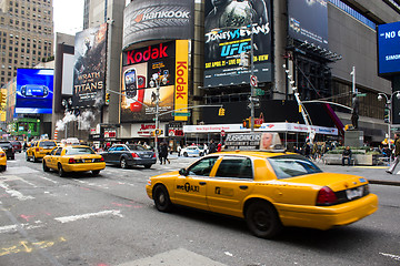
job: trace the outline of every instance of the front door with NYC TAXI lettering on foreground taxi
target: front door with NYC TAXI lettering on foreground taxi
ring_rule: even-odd
[[[187,175],[179,175],[174,183],[177,204],[209,209],[206,198],[207,182],[218,156],[204,157],[187,170]]]

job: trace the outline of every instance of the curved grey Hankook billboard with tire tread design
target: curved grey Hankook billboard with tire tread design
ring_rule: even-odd
[[[193,39],[194,1],[134,0],[123,11],[123,49],[149,40]]]

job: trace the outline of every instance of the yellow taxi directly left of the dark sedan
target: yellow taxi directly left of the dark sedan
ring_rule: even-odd
[[[58,146],[42,160],[43,171],[58,171],[60,176],[71,172],[91,171],[98,175],[106,168],[104,158],[97,154],[91,147],[84,145]]]

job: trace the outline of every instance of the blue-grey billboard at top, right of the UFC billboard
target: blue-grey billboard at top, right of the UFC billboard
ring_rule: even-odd
[[[328,49],[327,0],[289,0],[289,37]]]

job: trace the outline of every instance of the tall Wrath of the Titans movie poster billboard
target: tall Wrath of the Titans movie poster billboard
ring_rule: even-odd
[[[103,101],[106,90],[107,23],[76,34],[72,106],[87,108]]]

